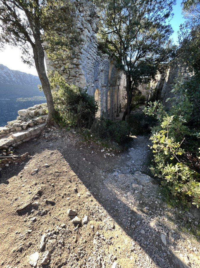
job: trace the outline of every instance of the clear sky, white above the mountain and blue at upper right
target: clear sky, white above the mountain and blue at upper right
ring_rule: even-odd
[[[179,25],[184,22],[183,15],[181,14],[181,2],[182,0],[176,0],[176,5],[173,8],[174,17],[170,21],[174,30],[172,38],[174,39],[175,44],[177,44],[178,41],[177,31],[179,30]],[[22,63],[21,51],[19,48],[12,48],[10,46],[6,46],[4,51],[0,51],[0,63],[4,64],[12,70],[19,70],[22,72],[38,75],[35,66],[29,68],[26,64]]]

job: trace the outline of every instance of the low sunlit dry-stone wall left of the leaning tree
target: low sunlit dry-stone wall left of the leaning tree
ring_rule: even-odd
[[[0,127],[0,148],[11,145],[15,147],[41,134],[46,126],[47,104],[19,110],[18,115],[16,120],[7,122],[5,127]]]

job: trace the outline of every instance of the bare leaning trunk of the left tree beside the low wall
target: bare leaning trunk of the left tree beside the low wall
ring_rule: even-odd
[[[54,116],[55,116],[55,108],[54,102],[51,94],[51,87],[49,83],[49,79],[46,74],[45,65],[44,65],[44,51],[43,46],[40,40],[36,40],[35,38],[35,48],[33,49],[33,55],[35,60],[36,70],[38,72],[38,76],[40,78],[40,82],[42,84],[42,88],[44,94],[46,96],[47,108],[48,108],[48,118],[46,120],[47,125],[54,125]]]

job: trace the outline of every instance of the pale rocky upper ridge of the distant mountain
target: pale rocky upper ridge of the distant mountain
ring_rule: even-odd
[[[0,83],[37,86],[40,84],[40,79],[36,75],[10,70],[8,67],[0,64]]]

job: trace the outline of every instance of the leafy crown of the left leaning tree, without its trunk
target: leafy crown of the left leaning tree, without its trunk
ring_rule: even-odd
[[[0,47],[7,43],[19,46],[23,62],[30,66],[33,65],[32,52],[35,54],[38,42],[43,44],[43,48],[53,60],[68,56],[70,43],[77,42],[72,28],[73,10],[74,4],[68,0],[0,0]],[[73,38],[61,35],[62,29]]]

